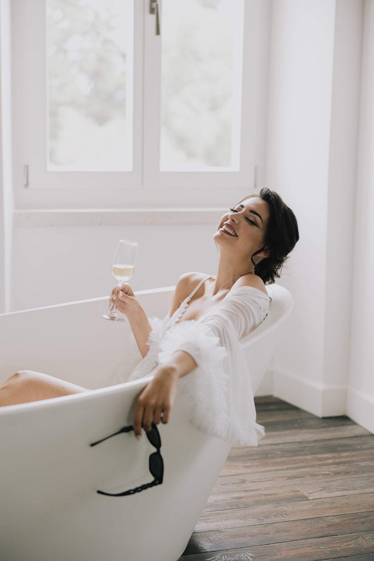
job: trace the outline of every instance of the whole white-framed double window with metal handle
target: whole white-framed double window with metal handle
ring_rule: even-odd
[[[267,4],[159,0],[157,35],[149,0],[13,2],[19,205],[248,192],[264,151]]]

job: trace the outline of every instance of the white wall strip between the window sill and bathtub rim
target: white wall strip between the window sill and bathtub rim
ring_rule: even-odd
[[[216,225],[17,227],[12,311],[108,295],[118,241],[138,242],[134,290],[172,286],[179,275],[214,274]]]

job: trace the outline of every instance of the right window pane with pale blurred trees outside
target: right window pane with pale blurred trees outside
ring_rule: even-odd
[[[160,169],[238,169],[243,2],[163,3]]]

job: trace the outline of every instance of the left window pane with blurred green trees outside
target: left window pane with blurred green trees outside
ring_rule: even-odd
[[[132,169],[132,0],[47,0],[49,169]]]

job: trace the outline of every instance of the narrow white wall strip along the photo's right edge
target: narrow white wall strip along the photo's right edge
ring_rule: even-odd
[[[374,2],[365,1],[347,413],[374,433]]]

